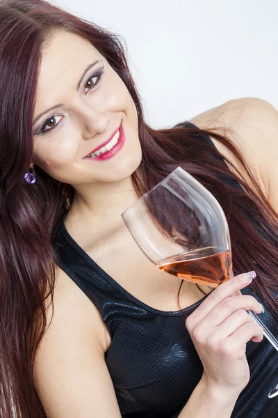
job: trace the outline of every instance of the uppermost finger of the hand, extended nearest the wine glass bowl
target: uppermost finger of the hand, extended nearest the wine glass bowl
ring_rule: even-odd
[[[245,274],[239,274],[238,276],[232,277],[231,279],[220,284],[218,288],[212,291],[208,297],[197,307],[197,309],[188,316],[186,325],[196,325],[200,320],[205,318],[211,309],[218,305],[225,297],[234,295],[240,289],[245,288],[251,281],[256,277],[255,272],[249,272]]]

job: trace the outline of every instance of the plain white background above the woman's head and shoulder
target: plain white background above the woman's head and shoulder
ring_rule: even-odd
[[[126,40],[152,127],[233,98],[278,109],[278,0],[51,0]]]

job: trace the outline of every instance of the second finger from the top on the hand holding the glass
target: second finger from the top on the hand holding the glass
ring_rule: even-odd
[[[227,318],[233,316],[238,310],[251,310],[256,314],[261,314],[263,305],[250,295],[228,296],[225,297],[215,309],[211,309],[206,318],[202,320],[202,325],[204,325],[204,329],[206,329],[206,327],[217,327],[226,322]]]

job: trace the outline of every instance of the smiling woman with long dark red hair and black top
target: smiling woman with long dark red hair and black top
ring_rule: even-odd
[[[277,111],[152,130],[117,38],[41,0],[2,1],[0,75],[0,415],[275,417],[247,310],[277,336]],[[120,216],[178,166],[224,209],[239,274],[184,282],[181,311]]]

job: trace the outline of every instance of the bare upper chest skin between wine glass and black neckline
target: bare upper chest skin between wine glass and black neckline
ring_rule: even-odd
[[[99,267],[113,277],[136,299],[161,311],[177,311],[181,279],[161,272],[142,253],[136,242],[125,231],[83,242],[83,249]],[[203,286],[203,291],[210,289]],[[204,297],[193,283],[183,281],[179,295],[181,308],[188,307]]]

